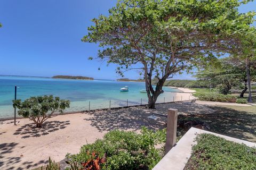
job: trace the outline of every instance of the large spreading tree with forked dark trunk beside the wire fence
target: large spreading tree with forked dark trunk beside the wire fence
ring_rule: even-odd
[[[82,41],[98,43],[98,58],[118,64],[121,75],[140,69],[149,108],[155,108],[167,78],[241,50],[241,37],[255,15],[239,14],[242,3],[247,1],[121,0],[108,16],[92,20]]]

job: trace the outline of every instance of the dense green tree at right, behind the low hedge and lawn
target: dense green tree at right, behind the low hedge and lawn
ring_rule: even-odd
[[[252,78],[256,70],[251,69]],[[199,69],[195,75],[197,82],[207,88],[218,87],[221,94],[227,95],[231,88],[242,89],[240,97],[243,98],[247,90],[247,77],[245,62],[236,57],[221,58],[217,62]]]

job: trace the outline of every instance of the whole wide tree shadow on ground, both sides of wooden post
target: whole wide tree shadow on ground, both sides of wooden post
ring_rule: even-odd
[[[256,142],[256,112],[249,113],[221,106],[204,106],[188,102],[167,103],[156,105],[156,109],[139,106],[91,111],[87,114],[92,116],[84,120],[91,121],[91,126],[100,132],[115,129],[138,131],[141,126],[157,130],[165,128],[166,117],[158,116],[157,120],[147,117],[152,113],[166,115],[169,108],[178,109],[178,125],[179,122],[186,120],[204,122],[209,126],[209,131]],[[184,133],[186,130],[178,127],[178,136]]]

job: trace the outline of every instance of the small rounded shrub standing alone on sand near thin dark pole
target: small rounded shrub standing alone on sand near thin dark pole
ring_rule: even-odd
[[[59,97],[50,96],[38,96],[30,97],[25,101],[12,100],[13,107],[19,109],[18,115],[36,123],[37,128],[41,128],[42,124],[48,119],[51,118],[53,113],[59,111],[63,112],[64,109],[69,108],[69,100],[60,100]]]

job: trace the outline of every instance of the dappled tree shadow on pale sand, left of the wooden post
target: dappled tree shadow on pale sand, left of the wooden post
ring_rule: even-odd
[[[165,125],[165,117],[160,117],[157,121],[147,118],[151,115],[151,111],[144,106],[91,111],[86,114],[92,117],[84,120],[90,121],[91,126],[96,127],[100,132],[116,129],[137,131],[141,126],[157,130],[164,128]]]

